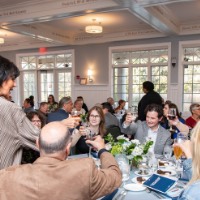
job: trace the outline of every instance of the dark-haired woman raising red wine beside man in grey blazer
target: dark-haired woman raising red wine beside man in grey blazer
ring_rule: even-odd
[[[170,120],[168,117],[170,108],[176,109],[176,118],[174,120]],[[176,104],[166,102],[163,108],[163,115],[161,126],[170,130],[172,139],[176,138],[179,132],[184,132],[186,134],[189,133],[189,128],[185,125],[185,120],[181,118]]]

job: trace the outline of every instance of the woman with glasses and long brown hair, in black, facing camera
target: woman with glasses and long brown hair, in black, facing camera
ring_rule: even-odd
[[[92,132],[96,133],[96,135],[104,137],[106,129],[105,129],[105,118],[102,108],[100,108],[99,106],[92,107],[87,114],[87,121],[89,124],[89,129]],[[79,141],[76,144],[76,148],[79,153],[88,153],[89,147],[85,143],[85,135],[86,135],[85,127],[80,127],[79,132],[81,135],[84,136],[80,137]]]

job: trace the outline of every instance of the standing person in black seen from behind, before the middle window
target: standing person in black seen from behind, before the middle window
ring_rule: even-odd
[[[145,121],[145,109],[149,104],[158,104],[162,106],[162,97],[154,91],[154,84],[150,81],[143,82],[143,92],[145,95],[138,103],[138,120]]]

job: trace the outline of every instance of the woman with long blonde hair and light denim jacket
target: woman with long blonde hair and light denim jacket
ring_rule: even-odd
[[[179,144],[187,159],[183,162],[184,173],[189,183],[179,196],[179,200],[200,199],[200,122],[192,130],[191,141]]]

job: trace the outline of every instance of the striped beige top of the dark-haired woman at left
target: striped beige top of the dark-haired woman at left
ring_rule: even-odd
[[[18,105],[0,97],[0,169],[20,164],[23,147],[38,150],[39,133]]]

